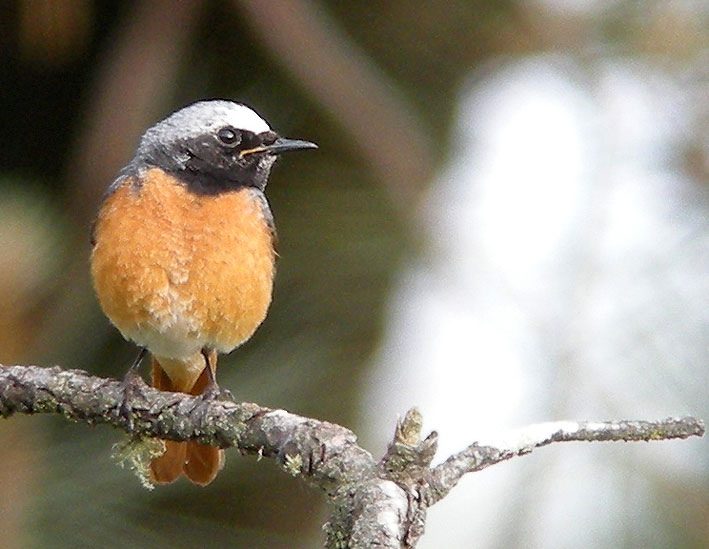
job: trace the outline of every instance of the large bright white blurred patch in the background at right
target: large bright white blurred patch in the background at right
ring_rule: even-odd
[[[676,169],[693,75],[557,55],[483,74],[422,212],[429,252],[390,302],[362,406],[371,447],[412,405],[440,459],[540,421],[707,417],[708,193]],[[466,477],[421,547],[671,546],[663,515],[689,502],[663,480],[703,482],[708,449],[537,451]]]

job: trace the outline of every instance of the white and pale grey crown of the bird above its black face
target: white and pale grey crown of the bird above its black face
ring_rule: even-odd
[[[256,134],[271,130],[268,123],[246,105],[221,100],[200,101],[155,124],[145,132],[139,149],[199,137],[225,126]]]

